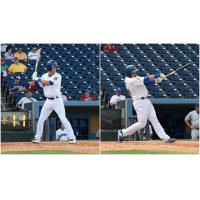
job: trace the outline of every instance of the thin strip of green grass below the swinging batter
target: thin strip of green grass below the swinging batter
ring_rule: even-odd
[[[195,154],[188,152],[159,151],[159,150],[116,150],[103,151],[102,154]]]

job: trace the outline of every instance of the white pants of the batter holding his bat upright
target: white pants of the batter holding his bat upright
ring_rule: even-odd
[[[45,120],[49,117],[49,115],[55,111],[60,118],[63,126],[65,127],[68,137],[70,139],[75,139],[74,131],[72,129],[71,124],[67,120],[65,116],[65,107],[61,97],[56,98],[54,100],[47,99],[42,107],[40,117],[37,124],[37,132],[35,135],[35,139],[40,140],[43,133],[43,127]]]

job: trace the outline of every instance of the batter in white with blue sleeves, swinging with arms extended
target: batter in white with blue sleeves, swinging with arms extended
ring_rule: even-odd
[[[140,77],[137,75],[137,69],[134,65],[128,65],[125,70],[126,78],[125,85],[133,99],[133,106],[137,113],[138,122],[129,126],[126,129],[118,131],[118,140],[122,142],[124,137],[134,134],[138,130],[144,128],[149,120],[160,139],[166,143],[175,142],[174,138],[170,138],[164,131],[158,121],[155,109],[149,100],[148,90],[146,85],[152,83],[160,83],[166,78],[162,73]]]

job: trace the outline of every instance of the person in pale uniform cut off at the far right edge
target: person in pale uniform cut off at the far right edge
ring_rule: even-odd
[[[189,112],[185,117],[185,123],[191,129],[191,138],[199,139],[199,104],[195,105],[195,110]]]

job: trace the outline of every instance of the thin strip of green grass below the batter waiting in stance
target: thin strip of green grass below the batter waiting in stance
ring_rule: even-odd
[[[8,151],[1,152],[1,154],[82,154],[74,151],[66,150],[33,150],[33,151]]]

